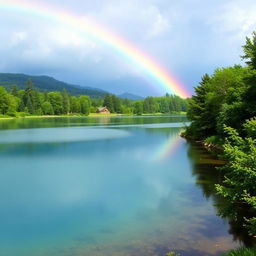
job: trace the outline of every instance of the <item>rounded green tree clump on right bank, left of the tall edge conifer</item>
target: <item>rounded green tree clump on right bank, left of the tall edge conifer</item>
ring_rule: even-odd
[[[189,101],[188,118],[192,121],[188,133],[200,139],[223,135],[223,125],[239,128],[248,118],[243,101],[251,71],[246,67],[216,69],[212,76],[202,77]]]

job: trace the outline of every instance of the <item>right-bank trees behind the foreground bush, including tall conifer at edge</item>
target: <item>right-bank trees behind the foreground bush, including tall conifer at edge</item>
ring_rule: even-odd
[[[196,139],[218,135],[224,137],[224,125],[242,131],[245,120],[256,116],[256,33],[243,46],[245,67],[216,69],[202,77],[188,104],[192,121],[187,133]]]

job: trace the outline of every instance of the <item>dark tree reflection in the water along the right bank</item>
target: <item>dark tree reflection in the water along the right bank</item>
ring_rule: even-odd
[[[221,183],[223,174],[216,169],[216,156],[207,152],[200,145],[189,143],[188,156],[192,163],[192,174],[196,178],[196,184],[201,188],[203,195],[207,200],[213,201],[214,207],[219,216],[223,217],[229,223],[229,233],[233,236],[234,241],[242,242],[245,246],[252,246],[255,241],[248,235],[248,231],[244,227],[244,217],[249,215],[247,209],[237,207],[238,218],[233,220],[225,211],[228,207],[232,207],[227,200],[216,195],[215,184]]]

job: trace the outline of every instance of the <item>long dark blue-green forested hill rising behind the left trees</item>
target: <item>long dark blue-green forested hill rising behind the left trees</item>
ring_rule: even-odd
[[[0,73],[0,86],[10,89],[16,84],[19,89],[26,88],[26,82],[31,79],[35,88],[40,91],[63,91],[66,89],[71,95],[88,95],[92,98],[104,97],[108,92],[91,87],[81,87],[56,80],[49,76],[30,76],[25,74]]]

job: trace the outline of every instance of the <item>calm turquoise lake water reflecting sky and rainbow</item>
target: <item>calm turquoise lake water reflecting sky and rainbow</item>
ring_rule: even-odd
[[[212,156],[179,137],[185,122],[1,120],[0,255],[207,256],[239,246],[241,230],[217,216]]]

